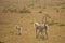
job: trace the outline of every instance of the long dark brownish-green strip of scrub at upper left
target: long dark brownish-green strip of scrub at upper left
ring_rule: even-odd
[[[28,9],[24,8],[23,10],[18,10],[17,9],[3,9],[3,12],[4,13],[8,13],[8,12],[15,12],[15,13],[31,13]]]

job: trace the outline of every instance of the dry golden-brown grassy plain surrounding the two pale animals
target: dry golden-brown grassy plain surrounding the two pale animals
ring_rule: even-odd
[[[65,4],[24,9],[0,6],[0,43],[65,43]],[[51,24],[48,40],[36,39],[34,23],[42,23],[44,14]],[[22,35],[15,34],[15,25],[23,26]]]

